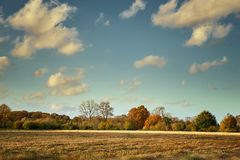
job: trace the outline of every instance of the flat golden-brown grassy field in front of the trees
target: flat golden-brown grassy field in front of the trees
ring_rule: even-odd
[[[0,159],[240,159],[239,134],[0,131]]]

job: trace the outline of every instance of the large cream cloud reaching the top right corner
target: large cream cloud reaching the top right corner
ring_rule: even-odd
[[[204,5],[203,5],[204,4]],[[177,8],[177,0],[160,5],[152,15],[152,23],[169,28],[192,28],[192,36],[186,46],[200,46],[209,38],[223,38],[228,35],[232,24],[220,24],[230,14],[240,12],[240,0],[191,0]]]

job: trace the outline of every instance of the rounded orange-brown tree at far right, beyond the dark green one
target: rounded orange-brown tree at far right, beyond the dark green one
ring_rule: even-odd
[[[237,119],[231,115],[227,114],[222,122],[220,123],[220,131],[222,132],[236,132],[237,131]]]

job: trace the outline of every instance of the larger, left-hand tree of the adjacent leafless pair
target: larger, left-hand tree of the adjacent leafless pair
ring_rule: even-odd
[[[81,115],[92,119],[97,114],[98,104],[94,100],[83,101],[79,106],[79,112]]]

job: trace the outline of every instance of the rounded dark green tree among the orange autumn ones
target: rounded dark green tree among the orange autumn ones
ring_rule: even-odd
[[[196,117],[195,125],[199,131],[214,131],[217,128],[217,121],[210,112],[203,111]]]

